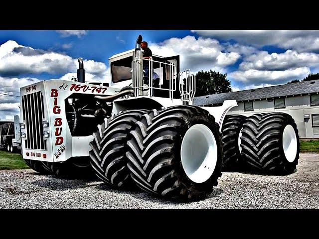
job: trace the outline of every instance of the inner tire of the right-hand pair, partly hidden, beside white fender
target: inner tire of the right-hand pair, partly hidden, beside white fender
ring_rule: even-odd
[[[246,116],[241,115],[230,115],[224,119],[221,138],[224,150],[223,171],[242,170],[240,132],[246,119]]]

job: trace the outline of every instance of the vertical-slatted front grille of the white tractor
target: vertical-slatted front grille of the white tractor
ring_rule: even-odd
[[[22,114],[25,120],[27,149],[46,150],[46,140],[43,138],[44,105],[42,92],[38,91],[22,96]]]

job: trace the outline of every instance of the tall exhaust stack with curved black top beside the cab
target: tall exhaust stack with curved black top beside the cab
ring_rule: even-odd
[[[136,39],[136,43],[135,43],[135,51],[133,54],[133,60],[135,59],[142,59],[143,58],[143,54],[141,51],[141,42],[142,42],[143,38],[142,35],[139,35],[138,38]],[[133,73],[135,73],[132,76],[132,86],[133,88],[136,87],[135,83],[137,82],[139,87],[143,86],[143,61],[136,61],[136,68],[133,71]],[[143,89],[142,88],[138,88],[134,91],[134,95],[135,96],[142,96],[143,95]]]

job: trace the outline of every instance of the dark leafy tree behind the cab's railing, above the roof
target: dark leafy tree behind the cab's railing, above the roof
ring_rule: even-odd
[[[195,96],[231,92],[230,81],[226,77],[227,73],[222,74],[213,70],[197,72]]]

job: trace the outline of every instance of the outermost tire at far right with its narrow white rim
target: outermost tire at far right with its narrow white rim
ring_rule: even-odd
[[[255,114],[243,124],[243,161],[254,171],[271,175],[293,173],[300,142],[295,120],[285,113]]]

